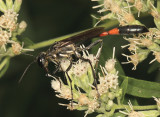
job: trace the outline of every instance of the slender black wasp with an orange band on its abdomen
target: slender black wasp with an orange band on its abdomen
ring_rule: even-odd
[[[102,50],[103,41],[102,39],[98,39],[85,48],[80,48],[78,44],[95,37],[104,37],[107,35],[133,35],[133,34],[139,34],[139,33],[145,33],[145,32],[148,32],[148,29],[145,26],[141,26],[141,25],[120,26],[120,27],[111,29],[109,31],[106,31],[104,27],[92,28],[90,30],[81,32],[79,34],[76,34],[64,40],[53,43],[53,45],[51,45],[47,51],[39,53],[39,55],[36,57],[36,62],[39,64],[40,67],[45,69],[47,76],[50,76],[48,65],[50,62],[52,62],[52,63],[55,63],[57,66],[53,74],[61,70],[62,72],[66,73],[68,78],[69,78],[68,71],[72,67],[73,55],[77,59],[81,59],[84,62],[88,62],[92,69],[94,84],[96,85],[96,90],[98,94],[95,70],[92,66],[91,61],[89,59],[84,58],[81,55],[81,52],[85,50],[89,50],[97,44],[100,44],[100,49]],[[60,63],[62,62],[62,59],[68,59],[70,61],[70,64],[66,70],[63,70],[61,68]],[[27,67],[27,69],[29,68],[29,66]],[[27,71],[27,69],[25,70],[25,72]],[[70,79],[70,82],[72,82],[71,79]],[[72,85],[71,85],[71,90],[72,90]],[[73,94],[72,94],[72,99],[73,99]]]

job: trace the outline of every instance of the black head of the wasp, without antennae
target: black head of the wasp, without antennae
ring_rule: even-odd
[[[46,53],[45,52],[41,52],[38,56],[37,56],[37,63],[40,67],[44,68],[46,66],[48,66],[48,61],[46,59]]]

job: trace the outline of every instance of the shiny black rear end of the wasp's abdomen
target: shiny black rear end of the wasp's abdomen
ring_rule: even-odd
[[[139,34],[149,32],[149,30],[145,26],[141,25],[127,25],[118,27],[119,34]]]

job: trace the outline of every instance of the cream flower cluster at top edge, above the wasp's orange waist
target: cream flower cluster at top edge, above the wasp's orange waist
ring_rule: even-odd
[[[95,0],[92,0],[92,1],[95,1]],[[99,0],[96,0],[96,1],[99,1]],[[106,14],[100,18],[95,17],[96,19],[99,19],[99,21],[95,24],[95,26],[100,21],[105,19],[117,19],[120,22],[120,25],[127,25],[127,24],[133,24],[134,22],[138,22],[134,18],[130,9],[133,6],[134,5],[130,5],[128,1],[124,3],[116,0],[103,0],[103,4],[93,7],[93,8],[102,7],[101,10],[97,11],[98,13],[106,12]]]

